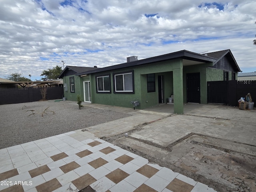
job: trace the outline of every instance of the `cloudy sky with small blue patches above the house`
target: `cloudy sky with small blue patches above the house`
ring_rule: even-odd
[[[256,71],[255,0],[0,0],[0,77],[230,49]]]

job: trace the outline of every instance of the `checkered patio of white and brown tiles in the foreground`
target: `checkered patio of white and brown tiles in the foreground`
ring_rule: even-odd
[[[0,192],[215,191],[81,130],[1,149],[0,158]]]

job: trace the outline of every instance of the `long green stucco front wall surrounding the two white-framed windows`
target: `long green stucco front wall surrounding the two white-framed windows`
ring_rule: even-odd
[[[106,104],[113,106],[122,106],[133,108],[131,104],[132,100],[138,100],[140,102],[140,106],[137,106],[138,109],[148,108],[150,106],[158,105],[158,76],[163,76],[163,86],[164,86],[164,102],[166,99],[170,97],[173,91],[173,75],[172,75],[172,66],[173,64],[180,64],[180,60],[172,60],[168,62],[147,64],[146,66],[135,66],[133,68],[125,68],[118,69],[112,71],[105,71],[102,73],[91,74],[90,82],[91,82],[91,94],[92,94],[92,103],[98,104]],[[126,72],[129,70],[134,70],[134,94],[130,93],[115,93],[113,88],[113,72]],[[168,72],[166,72],[168,71]],[[147,92],[147,78],[146,74],[155,74],[156,78],[156,92]],[[111,78],[111,93],[96,93],[96,79],[95,76],[110,74]],[[183,107],[183,102],[182,102]],[[183,110],[183,109],[182,109]]]

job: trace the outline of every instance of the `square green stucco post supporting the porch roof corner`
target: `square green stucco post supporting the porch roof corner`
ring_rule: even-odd
[[[183,114],[183,63],[182,59],[173,64],[174,113]]]

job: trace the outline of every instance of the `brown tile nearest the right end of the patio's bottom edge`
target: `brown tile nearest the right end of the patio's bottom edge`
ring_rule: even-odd
[[[166,186],[166,188],[173,192],[191,192],[194,186],[175,178]]]

